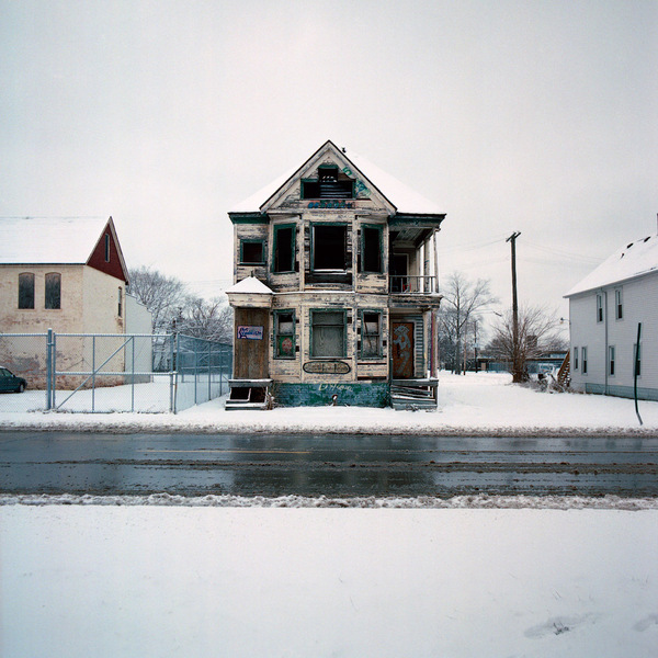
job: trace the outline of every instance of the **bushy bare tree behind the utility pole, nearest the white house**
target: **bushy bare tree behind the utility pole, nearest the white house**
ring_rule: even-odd
[[[490,352],[506,361],[514,361],[514,330],[512,311],[508,309],[494,326]],[[522,306],[518,320],[518,367],[513,382],[527,379],[526,363],[548,350],[564,349],[565,339],[559,332],[559,318],[541,306]]]

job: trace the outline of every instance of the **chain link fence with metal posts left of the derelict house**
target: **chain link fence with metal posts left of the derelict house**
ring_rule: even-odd
[[[0,333],[0,411],[175,413],[231,370],[229,344],[182,334]]]

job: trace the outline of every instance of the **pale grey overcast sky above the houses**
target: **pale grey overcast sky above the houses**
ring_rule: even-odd
[[[446,213],[441,275],[561,296],[657,231],[658,2],[0,0],[0,216],[110,216],[211,296],[327,139]],[[365,172],[367,173],[367,172]]]

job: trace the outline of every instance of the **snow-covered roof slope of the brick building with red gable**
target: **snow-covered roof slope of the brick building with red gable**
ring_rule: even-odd
[[[107,217],[0,219],[0,263],[86,263]]]

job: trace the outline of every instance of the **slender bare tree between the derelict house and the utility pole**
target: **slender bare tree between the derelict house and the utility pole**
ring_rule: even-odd
[[[469,281],[461,272],[453,272],[445,280],[442,291],[442,313],[440,326],[444,337],[454,345],[453,372],[463,372],[463,342],[467,328],[472,326],[479,310],[498,303],[484,279]]]

